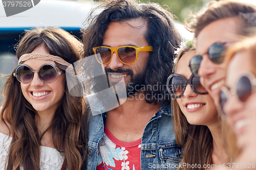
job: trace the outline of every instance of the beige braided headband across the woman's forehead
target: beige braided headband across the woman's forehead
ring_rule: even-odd
[[[41,53],[24,54],[19,58],[18,64],[20,64],[20,62],[22,62],[22,61],[26,61],[29,59],[51,60],[51,61],[55,61],[61,65],[66,65],[67,67],[69,65],[71,65],[70,63],[68,63],[67,61],[63,60],[62,58],[60,58],[58,56],[53,56],[50,54],[41,54]]]

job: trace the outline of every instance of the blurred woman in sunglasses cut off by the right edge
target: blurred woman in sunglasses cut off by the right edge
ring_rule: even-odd
[[[256,36],[234,44],[226,56],[226,82],[220,105],[227,122],[237,135],[242,168],[256,164]],[[240,164],[241,165],[241,164]],[[239,166],[240,167],[240,166]]]

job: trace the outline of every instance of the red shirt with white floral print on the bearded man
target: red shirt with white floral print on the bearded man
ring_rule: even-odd
[[[122,142],[116,139],[108,127],[99,141],[97,170],[140,170],[141,139],[133,142]]]

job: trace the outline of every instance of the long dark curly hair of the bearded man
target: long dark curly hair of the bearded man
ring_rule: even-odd
[[[96,15],[97,12],[100,14]],[[96,13],[96,14],[95,14]],[[84,57],[93,55],[93,47],[102,45],[103,35],[110,22],[125,22],[141,18],[145,21],[147,31],[145,39],[154,48],[149,52],[145,70],[145,85],[165,85],[172,72],[174,51],[180,44],[181,36],[174,26],[174,15],[155,3],[139,4],[134,0],[104,1],[94,8],[83,30]],[[166,87],[154,90],[147,88],[145,94],[165,96],[162,100],[150,98],[148,103],[170,104]]]

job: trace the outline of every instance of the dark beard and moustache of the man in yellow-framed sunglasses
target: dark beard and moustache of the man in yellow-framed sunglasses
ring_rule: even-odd
[[[111,68],[105,68],[105,72],[108,75],[108,77],[110,76],[108,73],[112,73],[112,72],[120,73],[120,74],[121,73],[130,74],[130,82],[127,82],[127,84],[125,84],[127,98],[131,95],[136,94],[136,92],[140,91],[142,87],[145,87],[145,71],[144,70],[140,69],[136,75],[134,75],[134,72],[132,69],[123,69],[123,68],[118,68],[116,70],[113,70]],[[110,81],[110,79],[108,80],[109,80],[110,87],[115,86],[118,83],[118,82],[112,82]],[[120,88],[120,87],[117,86],[116,88]]]

